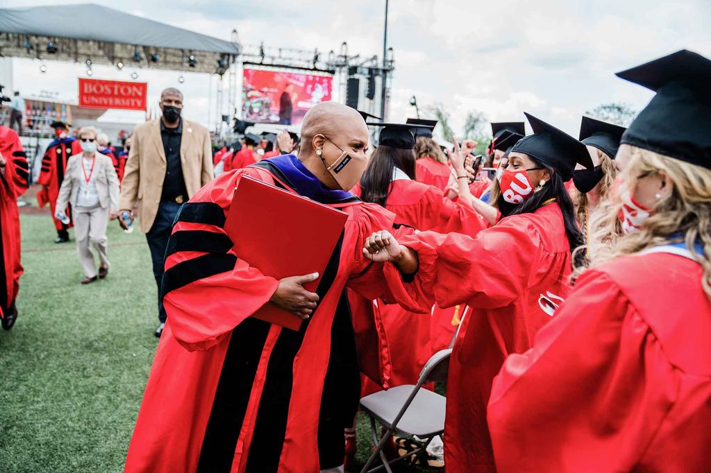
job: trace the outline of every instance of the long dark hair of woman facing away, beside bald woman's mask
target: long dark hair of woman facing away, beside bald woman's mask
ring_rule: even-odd
[[[385,207],[394,168],[400,168],[410,179],[415,180],[415,152],[411,149],[378,146],[360,178],[360,200]]]

